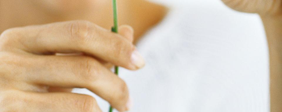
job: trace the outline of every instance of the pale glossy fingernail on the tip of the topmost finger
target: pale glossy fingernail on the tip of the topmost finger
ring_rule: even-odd
[[[142,67],[145,66],[145,61],[144,61],[143,57],[141,56],[141,54],[137,50],[132,52],[131,62],[132,62],[132,64],[135,65],[136,69],[142,68]]]

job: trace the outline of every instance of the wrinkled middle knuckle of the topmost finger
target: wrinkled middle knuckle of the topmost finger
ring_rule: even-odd
[[[93,34],[95,34],[95,25],[89,21],[72,21],[69,24],[70,34],[74,40],[79,44],[87,42]]]

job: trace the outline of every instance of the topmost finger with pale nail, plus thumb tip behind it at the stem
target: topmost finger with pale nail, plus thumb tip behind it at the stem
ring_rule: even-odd
[[[122,33],[129,37],[128,32],[130,28],[122,28]],[[130,38],[126,39],[91,22],[70,21],[15,28],[1,36],[13,36],[14,40],[21,42],[19,48],[31,53],[81,51],[131,70],[145,65],[140,53],[128,41]]]

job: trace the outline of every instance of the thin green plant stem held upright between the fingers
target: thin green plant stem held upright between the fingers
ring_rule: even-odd
[[[114,26],[112,27],[112,31],[118,33],[118,24],[117,24],[117,2],[113,0],[113,15],[114,15]],[[118,66],[115,66],[115,74],[118,75]],[[113,111],[113,107],[110,106],[109,112]]]

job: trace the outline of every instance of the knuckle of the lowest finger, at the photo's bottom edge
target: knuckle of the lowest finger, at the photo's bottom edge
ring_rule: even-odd
[[[80,99],[81,105],[80,108],[83,112],[93,112],[95,105],[95,98],[86,95],[84,98]]]

